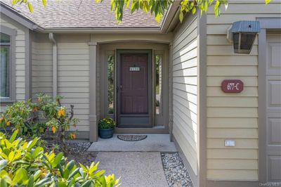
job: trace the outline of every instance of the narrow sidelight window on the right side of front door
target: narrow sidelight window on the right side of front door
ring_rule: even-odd
[[[162,115],[162,55],[155,56],[155,114]]]

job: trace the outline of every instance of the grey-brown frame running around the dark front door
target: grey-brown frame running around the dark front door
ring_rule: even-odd
[[[116,81],[116,88],[119,87],[119,84],[121,82],[121,77],[120,77],[120,74],[121,74],[121,55],[122,54],[136,54],[136,53],[146,53],[148,54],[148,124],[146,125],[143,125],[143,124],[136,124],[138,125],[139,127],[141,128],[152,128],[153,127],[153,124],[152,124],[152,109],[153,109],[153,102],[152,102],[152,50],[151,49],[117,49],[117,60],[116,60],[116,63],[117,63],[117,81]],[[117,89],[115,89],[117,91]],[[121,108],[121,94],[120,94],[120,91],[117,91],[116,93],[116,105],[117,105],[117,108],[115,109],[115,112],[117,114],[117,127],[119,125],[119,120],[120,120],[120,115],[121,115],[121,112],[120,112],[120,108]],[[140,115],[141,116],[141,115]],[[139,127],[136,127],[136,128],[139,128]],[[134,128],[134,127],[121,127],[121,128]]]

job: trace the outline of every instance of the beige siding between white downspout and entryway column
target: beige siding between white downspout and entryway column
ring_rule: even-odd
[[[86,42],[58,41],[58,94],[64,97],[62,104],[67,108],[74,105],[79,131],[89,131],[89,70]]]

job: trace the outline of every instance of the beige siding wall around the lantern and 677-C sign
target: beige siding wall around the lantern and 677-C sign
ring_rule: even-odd
[[[280,17],[281,4],[272,1],[229,1],[216,18],[207,15],[207,178],[258,180],[258,46],[249,55],[233,53],[226,30],[238,20]],[[242,93],[223,93],[223,79],[241,79]],[[236,146],[224,146],[226,138]]]

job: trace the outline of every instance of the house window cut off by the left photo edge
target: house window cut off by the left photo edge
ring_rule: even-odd
[[[9,100],[11,98],[10,94],[10,56],[11,56],[11,37],[8,34],[1,33],[1,42],[0,42],[0,84],[1,100]]]

